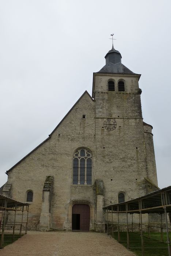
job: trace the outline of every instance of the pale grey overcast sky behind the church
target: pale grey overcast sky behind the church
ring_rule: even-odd
[[[159,187],[171,185],[171,1],[0,0],[0,187],[5,171],[91,94],[111,33],[122,63],[142,74]]]

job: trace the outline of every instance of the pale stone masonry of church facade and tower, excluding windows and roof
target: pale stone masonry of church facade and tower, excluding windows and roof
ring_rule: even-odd
[[[119,78],[113,75],[116,84]],[[144,137],[138,79],[136,75],[122,75],[122,78],[126,91],[113,92],[107,90],[111,75],[98,74],[95,101],[84,93],[50,138],[9,172],[14,199],[26,202],[27,191],[33,191],[30,228],[39,224],[47,175],[53,176],[52,228],[60,230],[71,218],[72,200],[90,202],[95,210],[94,222],[96,211],[102,216],[103,200],[96,206],[96,180],[103,181],[104,206],[117,203],[119,192],[125,194],[125,200],[144,195],[144,177],[149,176],[156,183],[154,165],[147,164],[152,147],[151,139]],[[113,131],[104,128],[107,118],[117,122]],[[92,153],[92,185],[72,185],[73,154],[82,147]]]

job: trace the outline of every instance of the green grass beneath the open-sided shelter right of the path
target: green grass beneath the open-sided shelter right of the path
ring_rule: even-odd
[[[144,233],[143,235],[147,236],[148,233]],[[118,240],[118,233],[114,232],[113,236],[116,240]],[[160,233],[151,232],[151,237],[160,240]],[[171,237],[171,232],[170,232]],[[167,256],[168,255],[168,246],[166,243],[156,241],[154,239],[143,237],[144,238],[144,252],[145,256]],[[167,234],[163,233],[163,241],[167,241]],[[126,232],[120,232],[120,243],[127,248],[127,236]],[[129,245],[130,250],[136,255],[141,256],[141,237],[137,233],[129,232]]]

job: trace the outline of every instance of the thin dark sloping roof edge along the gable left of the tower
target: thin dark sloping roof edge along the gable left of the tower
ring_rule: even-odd
[[[62,123],[62,121],[64,121],[64,119],[68,116],[68,114],[72,111],[72,109],[77,105],[77,103],[80,101],[80,99],[84,96],[84,94],[88,94],[88,96],[91,98],[92,101],[95,101],[91,95],[88,93],[88,91],[84,91],[84,93],[81,95],[81,97],[77,100],[77,102],[72,106],[72,108],[68,111],[68,113],[66,113],[66,115],[64,116],[64,118],[62,118],[62,120],[60,121],[60,123],[53,129],[53,131],[49,134],[49,137],[45,140],[43,140],[43,142],[41,142],[37,147],[35,147],[33,150],[31,150],[27,155],[25,155],[25,157],[23,157],[19,162],[17,162],[15,165],[13,165],[9,170],[7,170],[5,173],[8,175],[8,172],[11,171],[16,165],[18,165],[20,162],[22,162],[26,157],[28,157],[28,155],[30,155],[31,153],[33,153],[35,150],[37,150],[38,147],[40,147],[43,143],[45,143],[47,140],[49,140],[52,136],[52,134],[54,133],[54,131],[59,127],[59,125]]]

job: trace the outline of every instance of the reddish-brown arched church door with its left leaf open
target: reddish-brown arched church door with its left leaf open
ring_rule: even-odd
[[[89,231],[90,206],[88,204],[74,204],[72,207],[72,230]]]

